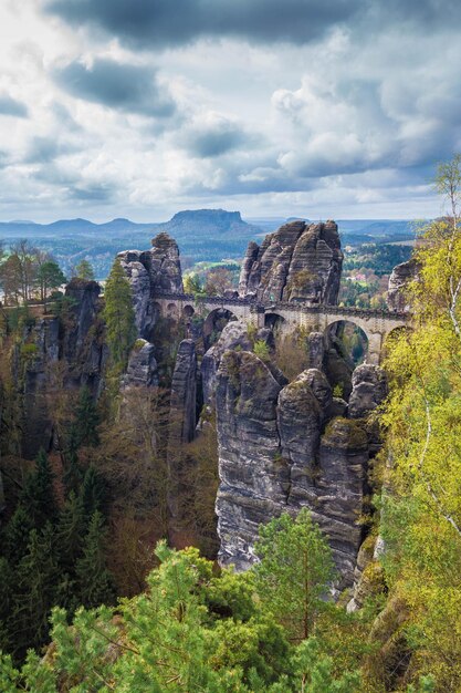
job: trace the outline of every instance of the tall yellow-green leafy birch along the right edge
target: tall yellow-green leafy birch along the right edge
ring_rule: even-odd
[[[431,674],[440,692],[461,686],[459,166],[455,157],[440,168],[438,188],[450,209],[423,230],[420,272],[409,288],[413,330],[389,340],[391,393],[383,417],[392,461],[381,500],[385,577],[406,604],[401,637],[411,680]]]

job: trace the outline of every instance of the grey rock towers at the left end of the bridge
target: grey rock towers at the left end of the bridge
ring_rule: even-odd
[[[153,239],[150,250],[124,250],[117,258],[132,287],[138,334],[149,339],[157,318],[155,297],[184,292],[178,245],[163,232]]]

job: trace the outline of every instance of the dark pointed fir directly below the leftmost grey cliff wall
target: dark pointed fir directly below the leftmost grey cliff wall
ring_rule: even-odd
[[[54,474],[46,453],[41,448],[36,456],[35,469],[28,476],[20,498],[36,528],[43,527],[48,520],[53,523],[57,517],[53,479]]]

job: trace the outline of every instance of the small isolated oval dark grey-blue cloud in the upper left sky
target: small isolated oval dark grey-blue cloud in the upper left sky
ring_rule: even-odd
[[[97,59],[91,66],[72,62],[54,72],[61,89],[73,96],[153,117],[169,117],[176,104],[151,68]]]

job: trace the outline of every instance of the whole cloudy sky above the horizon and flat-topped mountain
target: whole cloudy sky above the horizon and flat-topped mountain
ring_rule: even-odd
[[[1,0],[0,219],[421,218],[459,0]]]

